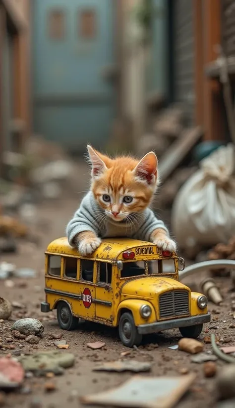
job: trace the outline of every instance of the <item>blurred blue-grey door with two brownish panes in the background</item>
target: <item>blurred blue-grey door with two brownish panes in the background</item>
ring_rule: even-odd
[[[102,146],[115,115],[112,0],[33,1],[34,131],[69,150]],[[106,70],[107,71],[107,70]]]

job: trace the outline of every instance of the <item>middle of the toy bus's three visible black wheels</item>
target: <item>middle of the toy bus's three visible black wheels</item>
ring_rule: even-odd
[[[129,312],[125,312],[121,315],[119,320],[119,337],[126,347],[139,346],[142,342],[142,334],[139,334],[133,316]]]

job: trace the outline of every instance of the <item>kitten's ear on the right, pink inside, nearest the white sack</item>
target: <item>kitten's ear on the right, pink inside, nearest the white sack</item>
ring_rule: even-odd
[[[154,152],[147,153],[134,168],[133,173],[140,180],[155,184],[158,176],[158,159]]]

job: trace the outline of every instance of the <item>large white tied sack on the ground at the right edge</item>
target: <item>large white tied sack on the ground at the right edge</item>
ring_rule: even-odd
[[[172,227],[180,247],[214,245],[235,235],[234,167],[234,145],[220,147],[179,190]]]

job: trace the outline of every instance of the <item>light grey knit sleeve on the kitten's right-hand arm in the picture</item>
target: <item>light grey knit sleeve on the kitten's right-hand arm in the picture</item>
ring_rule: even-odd
[[[147,208],[145,211],[144,222],[137,232],[137,239],[149,241],[152,232],[158,228],[164,229],[169,235],[168,228],[166,227],[164,222],[161,219],[158,219],[150,208]]]

